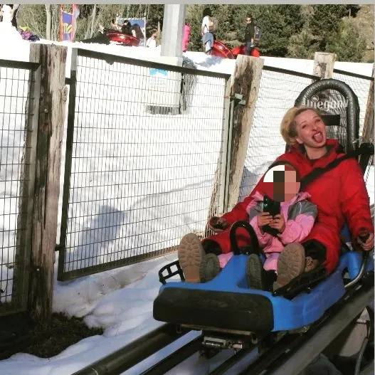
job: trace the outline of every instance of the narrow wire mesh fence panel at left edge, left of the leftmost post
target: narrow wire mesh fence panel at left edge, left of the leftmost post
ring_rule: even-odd
[[[29,253],[23,246],[27,212],[22,204],[28,199],[23,187],[30,69],[27,63],[0,62],[0,315],[26,308],[22,270]]]

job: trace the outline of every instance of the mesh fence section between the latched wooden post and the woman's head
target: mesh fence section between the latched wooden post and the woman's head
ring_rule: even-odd
[[[289,70],[263,67],[253,126],[250,130],[238,201],[250,194],[270,164],[285,152],[280,123],[301,91],[318,78]]]

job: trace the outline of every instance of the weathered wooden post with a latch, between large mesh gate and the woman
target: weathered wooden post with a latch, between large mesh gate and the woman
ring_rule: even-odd
[[[238,100],[236,100],[237,104],[233,110],[231,158],[229,168],[227,168],[228,201],[225,205],[226,211],[230,211],[238,203],[263,63],[264,60],[262,58],[250,56],[239,55],[236,59],[231,97],[236,100],[237,96]]]

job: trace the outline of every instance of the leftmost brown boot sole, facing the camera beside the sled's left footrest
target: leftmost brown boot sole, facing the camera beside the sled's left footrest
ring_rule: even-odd
[[[187,282],[201,282],[199,267],[204,254],[201,241],[194,233],[188,233],[181,238],[178,256]]]

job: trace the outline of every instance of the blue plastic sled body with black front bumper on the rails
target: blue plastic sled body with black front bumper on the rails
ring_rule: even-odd
[[[347,270],[349,278],[355,278],[361,268],[361,258],[359,253],[345,253],[326,280],[288,300],[251,289],[245,274],[248,256],[235,255],[209,282],[163,285],[154,301],[154,319],[241,332],[297,329],[316,322],[344,296],[342,273]],[[374,271],[373,262],[368,262],[366,271]]]

